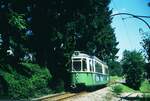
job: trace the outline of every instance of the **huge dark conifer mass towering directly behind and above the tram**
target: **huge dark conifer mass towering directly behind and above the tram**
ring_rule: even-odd
[[[115,59],[118,52],[110,26],[110,0],[46,0],[31,4],[33,49],[37,62],[53,77],[64,77],[74,50]],[[64,68],[65,67],[65,68]],[[59,72],[59,71],[64,71]]]

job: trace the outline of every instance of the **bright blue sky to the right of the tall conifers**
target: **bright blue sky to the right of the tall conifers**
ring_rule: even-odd
[[[148,6],[150,0],[111,0],[109,8],[116,13],[130,13],[134,15],[150,16],[150,7]],[[150,25],[150,18],[143,18]],[[128,15],[114,16],[112,20],[112,27],[115,29],[117,41],[119,42],[117,53],[120,60],[124,50],[141,51],[142,35],[145,32],[150,32],[147,25],[137,18]],[[139,31],[142,29],[142,31]]]

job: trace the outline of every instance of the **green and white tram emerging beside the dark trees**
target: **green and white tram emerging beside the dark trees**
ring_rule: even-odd
[[[108,83],[108,66],[97,57],[75,51],[71,59],[72,88],[93,87]]]

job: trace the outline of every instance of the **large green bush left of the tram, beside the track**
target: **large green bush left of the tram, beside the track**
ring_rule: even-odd
[[[22,68],[20,70],[30,71],[30,77],[26,72],[20,74],[16,70],[4,72],[3,78],[8,84],[8,98],[29,98],[50,91],[48,82],[51,79],[51,75],[47,68],[31,63],[22,63],[19,66],[17,68]]]

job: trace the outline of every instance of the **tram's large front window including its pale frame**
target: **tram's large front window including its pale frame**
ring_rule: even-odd
[[[81,59],[73,59],[72,70],[73,71],[81,71]]]

